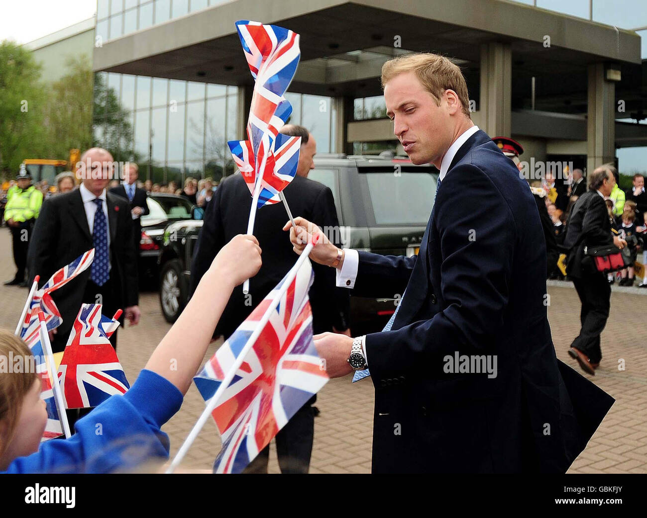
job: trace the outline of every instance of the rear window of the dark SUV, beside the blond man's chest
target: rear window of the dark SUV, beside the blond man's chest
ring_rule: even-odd
[[[366,172],[377,225],[424,225],[432,213],[436,175],[429,172]]]

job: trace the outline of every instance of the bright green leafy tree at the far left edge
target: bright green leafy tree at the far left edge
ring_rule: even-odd
[[[0,42],[0,176],[15,174],[25,158],[42,158],[46,94],[32,54]]]

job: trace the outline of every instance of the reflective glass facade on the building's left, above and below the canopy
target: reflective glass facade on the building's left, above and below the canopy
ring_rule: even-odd
[[[218,3],[223,0],[98,0],[95,37],[107,41]],[[227,141],[247,138],[238,126],[237,87],[108,72],[95,75],[95,92],[97,86],[107,88],[117,102],[95,94],[96,143],[111,143],[115,156],[137,161],[141,180],[219,180],[234,172]],[[318,152],[332,152],[332,99],[294,93],[285,97],[292,104],[289,122],[312,132]],[[101,102],[105,106],[97,107]],[[120,114],[126,120],[115,125]]]

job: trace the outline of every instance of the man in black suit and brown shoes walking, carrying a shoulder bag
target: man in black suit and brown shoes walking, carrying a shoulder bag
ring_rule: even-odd
[[[566,271],[582,302],[582,328],[568,352],[584,372],[593,376],[602,359],[600,333],[609,317],[611,286],[604,273],[589,271],[582,266],[584,247],[613,244],[622,249],[627,243],[611,233],[609,213],[604,202],[615,185],[613,172],[602,165],[589,174],[588,180],[589,190],[578,198],[571,209],[564,247],[569,250]]]

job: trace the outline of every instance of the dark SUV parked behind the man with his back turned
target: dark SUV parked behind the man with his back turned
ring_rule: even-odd
[[[340,222],[340,229],[324,231],[338,231],[347,248],[385,255],[418,253],[433,206],[435,167],[413,165],[408,158],[344,155],[318,155],[315,165],[308,178],[333,191]],[[160,304],[168,322],[175,322],[186,305],[191,258],[201,227],[201,221],[166,227],[159,264]],[[353,335],[382,330],[402,293],[385,295],[351,297]]]

